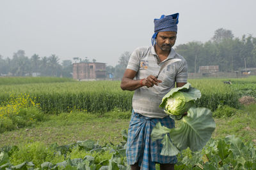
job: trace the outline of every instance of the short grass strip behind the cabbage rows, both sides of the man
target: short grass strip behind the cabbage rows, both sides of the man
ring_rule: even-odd
[[[0,134],[0,147],[35,141],[45,145],[67,145],[85,139],[99,140],[102,144],[118,144],[123,140],[121,131],[128,129],[130,115],[129,111],[118,110],[105,114],[74,112],[48,115],[46,122],[40,122],[34,127]],[[234,134],[244,142],[256,141],[256,104],[237,110],[236,115],[230,118],[215,118],[215,121],[216,131],[212,135],[213,138]]]

